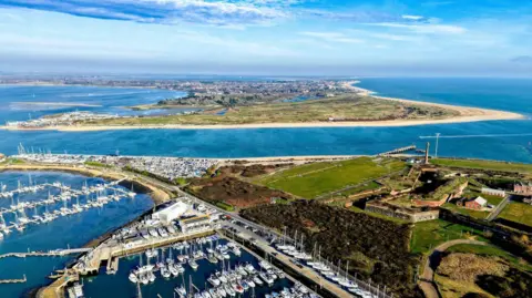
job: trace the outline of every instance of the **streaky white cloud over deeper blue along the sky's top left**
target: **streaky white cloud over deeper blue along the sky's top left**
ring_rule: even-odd
[[[0,7],[21,7],[98,19],[173,24],[265,25],[289,14],[288,0],[8,0]]]

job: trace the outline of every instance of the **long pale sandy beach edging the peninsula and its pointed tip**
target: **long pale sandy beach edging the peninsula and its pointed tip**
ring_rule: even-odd
[[[451,124],[480,121],[497,120],[520,120],[523,115],[480,107],[450,105],[431,102],[420,102],[405,99],[395,99],[375,95],[375,92],[355,86],[358,81],[345,82],[346,89],[352,90],[357,94],[372,96],[375,99],[402,102],[408,104],[437,106],[452,110],[459,113],[457,116],[444,119],[416,119],[416,120],[388,120],[388,121],[330,121],[330,122],[295,122],[295,123],[250,123],[250,124],[214,124],[214,125],[194,125],[194,124],[155,124],[155,125],[71,125],[71,126],[49,126],[43,129],[20,129],[13,126],[0,126],[0,130],[11,131],[61,131],[61,132],[90,132],[90,131],[112,131],[112,130],[244,130],[244,129],[306,129],[306,127],[397,127],[415,126],[428,124]]]

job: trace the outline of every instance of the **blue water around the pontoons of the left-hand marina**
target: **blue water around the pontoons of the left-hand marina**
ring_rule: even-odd
[[[81,188],[86,181],[88,185],[101,184],[101,178],[84,177],[73,174],[32,172],[32,181],[37,183],[61,181],[73,188]],[[0,173],[0,182],[8,185],[8,189],[17,187],[18,181],[28,185],[28,172]],[[52,192],[53,194],[53,192]],[[20,196],[20,202],[43,199],[48,191]],[[84,199],[82,199],[83,203]],[[0,198],[0,207],[9,207],[10,199]],[[30,225],[23,233],[17,230],[0,240],[0,254],[13,251],[49,250],[57,248],[81,247],[105,232],[123,225],[135,218],[153,205],[147,195],[137,195],[134,199],[111,202],[102,208],[91,208],[82,213],[59,217],[58,219],[41,225]],[[70,206],[70,205],[69,205]],[[50,207],[52,209],[52,206]],[[42,214],[43,208],[39,212]],[[33,210],[27,209],[27,215],[32,216]],[[4,216],[8,222],[12,218]],[[112,220],[110,220],[112,219]],[[29,289],[48,282],[45,278],[53,269],[64,267],[71,257],[44,258],[6,258],[0,259],[0,279],[22,278],[25,274],[27,284],[0,285],[0,297],[22,297]]]

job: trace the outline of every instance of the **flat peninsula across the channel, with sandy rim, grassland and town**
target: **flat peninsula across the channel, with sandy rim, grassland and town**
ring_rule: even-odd
[[[196,107],[200,111],[151,116],[66,117],[45,124],[8,123],[8,130],[101,131],[134,129],[262,129],[411,126],[516,120],[518,113],[377,96],[358,81],[174,82],[186,90],[134,110]]]

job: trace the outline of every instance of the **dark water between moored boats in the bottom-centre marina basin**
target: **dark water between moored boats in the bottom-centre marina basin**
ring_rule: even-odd
[[[225,243],[225,240],[219,242]],[[204,248],[206,248],[204,246]],[[160,250],[161,253],[161,250]],[[173,250],[173,258],[176,259],[177,255],[181,255],[178,250]],[[246,250],[242,249],[242,255],[236,257],[234,254],[229,253],[231,255],[231,267],[233,268],[237,264],[245,264],[250,263],[255,266],[258,270],[258,260],[247,253]],[[165,251],[165,256],[168,256],[168,250]],[[145,255],[142,256],[143,263],[145,264],[146,257]],[[154,264],[154,260],[151,261]],[[180,275],[178,277],[172,277],[170,279],[164,279],[161,277],[158,273],[155,273],[157,279],[155,282],[146,286],[141,286],[143,297],[157,297],[157,294],[164,298],[172,298],[174,297],[173,290],[175,287],[183,285],[185,282],[185,287],[188,289],[188,278],[192,276],[192,282],[200,288],[201,290],[205,288],[212,288],[207,282],[207,278],[211,276],[212,273],[218,270],[222,271],[222,263],[212,264],[206,259],[198,260],[197,264],[200,267],[196,271],[194,271],[188,265],[183,265],[185,268],[184,277]],[[85,296],[88,298],[131,298],[136,297],[136,285],[132,284],[127,276],[130,271],[139,266],[139,255],[132,256],[130,258],[122,258],[119,264],[119,271],[116,275],[106,275],[104,271],[101,271],[99,276],[84,279],[84,290]],[[227,268],[227,261],[225,263]],[[260,298],[264,297],[265,294],[272,291],[279,291],[283,287],[290,287],[293,284],[288,279],[276,280],[273,287],[267,287],[263,285],[262,287],[255,288],[256,297]],[[250,290],[244,292],[242,297],[249,297]],[[177,296],[176,296],[177,297]]]

